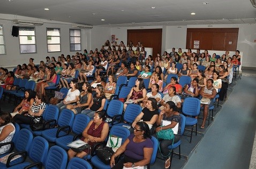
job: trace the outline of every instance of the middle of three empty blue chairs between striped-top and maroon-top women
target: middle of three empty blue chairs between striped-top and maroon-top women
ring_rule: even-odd
[[[74,112],[69,109],[63,109],[59,115],[56,128],[50,128],[42,132],[43,138],[49,142],[55,142],[57,138],[67,135],[74,121]]]

